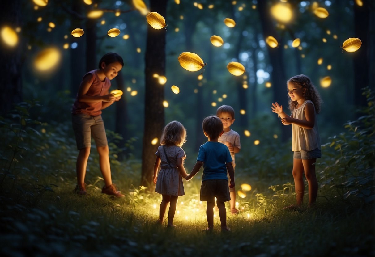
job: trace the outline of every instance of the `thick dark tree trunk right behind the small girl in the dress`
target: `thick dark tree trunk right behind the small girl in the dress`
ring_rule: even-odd
[[[166,18],[167,0],[151,0],[150,11],[157,12]],[[142,147],[141,185],[150,186],[153,179],[153,167],[157,145],[151,141],[155,137],[160,140],[164,127],[164,87],[160,86],[153,74],[165,74],[165,34],[166,30],[155,30],[148,26],[145,52],[145,106],[144,133]]]

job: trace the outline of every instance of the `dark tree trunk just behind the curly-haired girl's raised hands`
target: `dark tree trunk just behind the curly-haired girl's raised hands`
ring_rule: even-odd
[[[260,15],[261,25],[263,29],[263,36],[273,36],[277,39],[277,33],[275,31],[275,26],[272,22],[272,17],[270,16],[269,7],[267,6],[268,1],[259,1],[258,2],[258,11]],[[282,45],[281,40],[279,39],[279,44]],[[272,89],[273,89],[273,100],[272,102],[278,102],[283,106],[283,109],[288,113],[288,99],[285,90],[287,85],[285,84],[287,78],[284,71],[283,63],[283,47],[270,48],[267,46],[268,54],[270,58],[270,63],[272,65]],[[270,103],[271,106],[271,103]],[[286,142],[291,137],[291,129],[288,126],[282,125],[279,123],[281,129],[281,140]]]

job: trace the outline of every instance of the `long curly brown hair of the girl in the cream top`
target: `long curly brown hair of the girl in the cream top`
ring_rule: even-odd
[[[317,112],[317,114],[320,112],[323,100],[321,99],[317,88],[315,88],[314,83],[312,83],[308,76],[303,74],[296,75],[288,79],[287,84],[288,83],[293,83],[296,85],[300,85],[302,88],[306,88],[306,92],[303,94],[303,97],[305,98],[305,100],[311,100],[314,103],[315,112]],[[291,111],[293,111],[293,109],[296,108],[298,104],[297,101],[292,101],[292,99],[289,99],[288,103],[289,109]]]

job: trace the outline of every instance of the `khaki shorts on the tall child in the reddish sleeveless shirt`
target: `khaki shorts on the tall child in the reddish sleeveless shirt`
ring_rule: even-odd
[[[78,150],[90,148],[91,137],[95,140],[96,147],[108,145],[102,115],[73,114],[72,124]]]

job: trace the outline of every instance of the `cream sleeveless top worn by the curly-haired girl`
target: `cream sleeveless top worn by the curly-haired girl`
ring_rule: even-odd
[[[311,100],[303,102],[299,108],[293,109],[292,118],[306,121],[305,107],[307,103],[312,103],[312,106],[314,107],[314,127],[312,129],[304,129],[296,124],[292,124],[292,151],[311,151],[316,148],[321,149],[318,119],[314,103]]]

